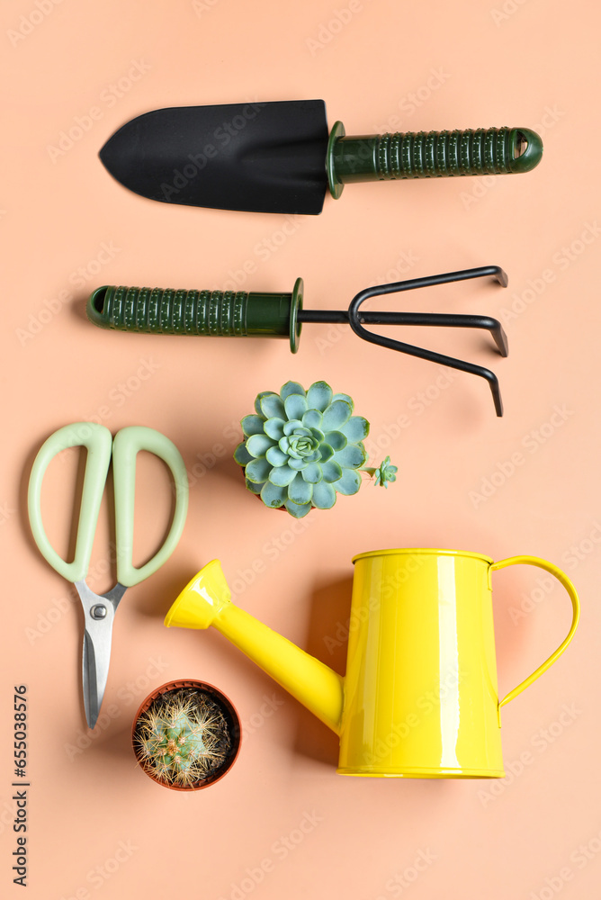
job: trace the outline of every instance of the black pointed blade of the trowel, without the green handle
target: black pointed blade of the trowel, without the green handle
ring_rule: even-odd
[[[327,192],[322,100],[155,110],[100,151],[130,191],[165,203],[318,215]]]

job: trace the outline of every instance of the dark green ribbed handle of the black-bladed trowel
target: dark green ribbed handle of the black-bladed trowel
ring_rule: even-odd
[[[542,156],[543,141],[527,128],[397,131],[347,138],[337,121],[327,148],[327,177],[337,199],[349,182],[507,175],[529,172]]]

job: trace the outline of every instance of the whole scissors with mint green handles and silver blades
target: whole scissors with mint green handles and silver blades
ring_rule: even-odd
[[[76,551],[66,563],[50,545],[41,521],[41,482],[49,463],[67,447],[85,446],[84,486],[77,523]],[[175,511],[165,543],[148,563],[136,568],[132,563],[136,458],[148,450],[169,467],[175,482]],[[115,538],[117,544],[117,584],[98,595],[88,588],[87,577],[94,534],[98,523],[109,466],[115,494]],[[31,469],[28,509],[33,538],[44,559],[67,581],[74,582],[84,608],[85,635],[82,658],[85,719],[94,728],[103,703],[111,658],[112,623],[125,593],[157,572],[175,550],[184,529],[188,509],[188,479],[184,460],[165,435],[152,428],[121,428],[114,440],[111,432],[94,422],[76,422],[59,428],[41,446]]]

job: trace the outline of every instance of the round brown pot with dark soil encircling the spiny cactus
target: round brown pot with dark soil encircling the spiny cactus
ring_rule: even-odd
[[[169,784],[165,780],[161,780],[157,778],[157,776],[148,770],[148,767],[144,764],[144,761],[140,758],[139,750],[136,745],[137,741],[137,727],[139,723],[139,716],[145,713],[149,707],[152,706],[155,701],[159,701],[160,698],[165,697],[166,694],[171,692],[178,691],[186,691],[188,689],[189,696],[193,697],[194,692],[198,692],[202,694],[204,697],[208,697],[211,701],[220,709],[220,713],[222,714],[227,726],[229,737],[231,739],[231,748],[228,753],[226,760],[221,763],[221,765],[211,772],[204,779],[200,779],[195,781],[193,784],[189,786]],[[154,690],[151,694],[148,694],[148,697],[140,704],[138,712],[136,716],[134,716],[133,725],[131,728],[131,743],[133,746],[133,751],[136,755],[136,759],[139,762],[140,769],[148,775],[149,779],[156,781],[157,784],[162,785],[163,788],[171,788],[171,790],[202,790],[202,788],[208,788],[210,785],[215,784],[215,782],[220,781],[224,775],[226,775],[231,767],[234,765],[234,762],[238,758],[238,752],[240,751],[240,743],[241,743],[241,732],[240,732],[240,719],[238,717],[238,712],[236,711],[236,707],[231,703],[229,698],[222,694],[220,689],[215,688],[212,684],[207,684],[205,681],[197,681],[193,679],[185,679],[180,681],[169,681],[166,684],[161,685],[160,688]]]

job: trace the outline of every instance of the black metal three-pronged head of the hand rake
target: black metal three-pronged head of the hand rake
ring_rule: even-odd
[[[361,317],[359,314],[362,303],[369,300],[371,297],[409,291],[418,287],[430,287],[435,284],[465,281],[469,278],[480,278],[485,275],[492,275],[502,287],[507,287],[507,275],[500,266],[480,266],[480,268],[462,269],[459,272],[448,272],[443,275],[431,275],[425,278],[413,278],[404,282],[380,284],[372,288],[366,288],[364,291],[358,293],[349,304],[349,325],[359,338],[363,338],[363,340],[372,344],[377,344],[380,347],[388,347],[390,350],[399,351],[399,353],[407,353],[409,356],[418,356],[421,359],[427,359],[433,363],[448,365],[453,369],[459,369],[462,372],[468,372],[470,374],[479,375],[481,378],[485,378],[490,385],[490,391],[492,393],[492,399],[495,404],[497,415],[502,416],[503,402],[501,400],[498,378],[497,375],[489,369],[486,369],[481,365],[466,363],[461,359],[455,359],[453,356],[444,356],[444,354],[435,353],[432,350],[414,347],[412,344],[405,344],[401,341],[393,340],[392,338],[384,338],[382,335],[373,334],[372,331],[363,328],[361,321],[361,319],[364,319],[368,314],[363,313]],[[451,328],[466,326],[471,328],[487,328],[495,339],[499,353],[501,353],[502,356],[507,356],[507,338],[500,322],[497,320],[489,320],[488,317],[441,316],[435,313],[404,313],[400,315],[408,317],[408,320],[406,320],[404,324],[444,325]],[[413,319],[412,322],[410,321],[411,319]],[[472,322],[471,325],[467,325],[466,319],[476,321]],[[482,324],[482,320],[486,321],[486,324]]]

